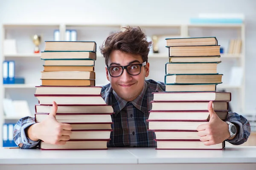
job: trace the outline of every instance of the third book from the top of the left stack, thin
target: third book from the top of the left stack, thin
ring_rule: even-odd
[[[46,66],[94,66],[94,60],[91,59],[49,59],[44,61]]]

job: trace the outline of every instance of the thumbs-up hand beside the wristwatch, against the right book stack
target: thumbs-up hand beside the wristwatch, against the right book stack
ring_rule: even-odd
[[[212,101],[208,104],[209,122],[197,127],[198,136],[204,145],[219,144],[230,137],[228,125],[222,121],[212,108]]]

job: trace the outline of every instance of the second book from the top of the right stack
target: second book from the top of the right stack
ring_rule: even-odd
[[[169,56],[220,56],[220,45],[169,47]]]

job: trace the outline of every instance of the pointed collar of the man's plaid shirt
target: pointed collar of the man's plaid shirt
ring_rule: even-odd
[[[131,103],[140,111],[142,111],[143,113],[147,113],[147,101],[148,101],[148,95],[146,94],[148,88],[148,84],[144,81],[144,86],[143,86],[143,90],[141,91],[140,95],[137,96],[136,99],[134,99],[133,101],[131,101]],[[124,107],[125,105],[128,103],[125,99],[122,99],[121,97],[119,97],[116,92],[113,90],[113,95],[116,98],[117,104],[118,106],[115,106],[116,111],[115,113],[119,113]]]

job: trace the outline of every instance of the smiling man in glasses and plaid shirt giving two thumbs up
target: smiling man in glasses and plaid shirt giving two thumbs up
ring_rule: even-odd
[[[102,98],[113,105],[114,122],[108,147],[156,147],[154,133],[148,131],[152,92],[164,92],[165,84],[145,80],[149,74],[147,42],[140,28],[124,28],[111,34],[100,48],[105,57],[106,76],[110,84],[102,88]],[[57,105],[53,102],[52,113],[41,123],[25,117],[15,125],[15,143],[21,148],[33,148],[40,140],[51,144],[65,144],[70,139],[71,126],[55,119]],[[205,145],[218,144],[227,140],[242,144],[250,135],[250,124],[243,116],[229,112],[222,121],[209,102],[210,120],[198,126],[198,136]]]

